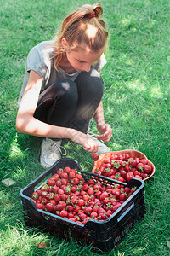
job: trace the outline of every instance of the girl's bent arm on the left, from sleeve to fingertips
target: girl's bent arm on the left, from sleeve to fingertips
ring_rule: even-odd
[[[97,152],[98,144],[94,139],[80,131],[48,125],[36,118],[34,113],[42,87],[42,78],[38,73],[31,70],[26,90],[20,102],[20,108],[16,117],[16,129],[20,133],[30,134],[37,137],[69,138],[74,143],[82,145],[88,152]]]

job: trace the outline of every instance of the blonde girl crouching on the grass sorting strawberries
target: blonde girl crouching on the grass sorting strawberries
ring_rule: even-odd
[[[112,136],[105,124],[100,71],[108,32],[99,3],[83,5],[62,23],[54,41],[31,49],[19,97],[16,129],[43,137],[40,162],[44,168],[61,157],[61,140],[69,138],[88,152],[109,151]],[[88,134],[94,117],[100,135]]]

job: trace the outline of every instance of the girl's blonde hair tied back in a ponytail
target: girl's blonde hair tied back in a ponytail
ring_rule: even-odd
[[[85,4],[65,18],[53,44],[54,67],[56,69],[62,59],[62,55],[65,53],[65,49],[61,44],[62,38],[65,38],[69,47],[75,50],[75,42],[78,44],[85,43],[94,52],[105,48],[108,32],[105,29],[104,20],[101,19],[102,13],[103,9],[99,3],[93,5]],[[88,33],[86,33],[89,25],[96,28],[97,32],[94,38],[89,38]]]

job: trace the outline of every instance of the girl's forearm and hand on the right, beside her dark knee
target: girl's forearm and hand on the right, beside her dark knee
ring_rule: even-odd
[[[99,107],[97,108],[94,114],[94,119],[97,123],[97,128],[101,134],[97,138],[106,143],[109,142],[112,137],[112,129],[111,129],[111,125],[105,124],[104,109],[103,109],[102,102],[99,103]]]

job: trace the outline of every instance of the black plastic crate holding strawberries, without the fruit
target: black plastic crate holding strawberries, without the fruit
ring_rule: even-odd
[[[37,209],[31,200],[32,193],[37,190],[37,185],[42,185],[44,179],[52,176],[59,168],[66,166],[75,168],[81,172],[86,182],[93,178],[94,181],[107,184],[121,184],[129,188],[137,187],[131,195],[110,218],[104,221],[94,219],[88,220],[87,224],[79,224],[66,218],[61,218],[53,213]],[[132,178],[128,183],[122,183],[109,177],[103,177],[92,172],[85,172],[77,160],[63,158],[58,160],[46,172],[37,177],[33,182],[20,190],[21,203],[24,209],[24,218],[28,226],[41,227],[61,237],[74,238],[76,241],[83,241],[85,244],[93,244],[102,251],[109,252],[116,247],[127,235],[133,224],[139,221],[144,215],[144,181]]]

